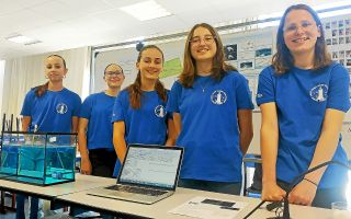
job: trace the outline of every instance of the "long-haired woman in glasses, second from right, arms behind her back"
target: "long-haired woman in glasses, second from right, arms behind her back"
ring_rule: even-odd
[[[185,148],[180,186],[240,194],[252,108],[248,82],[225,64],[219,35],[208,24],[196,24],[167,107],[179,134],[176,145]]]

